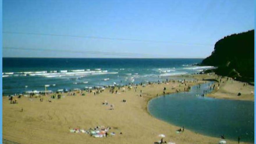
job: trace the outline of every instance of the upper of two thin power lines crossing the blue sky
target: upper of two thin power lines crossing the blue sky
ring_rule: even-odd
[[[213,46],[213,44],[203,44],[203,43],[171,42],[171,41],[156,41],[156,40],[139,40],[139,39],[126,39],[126,38],[107,38],[107,37],[96,37],[96,36],[85,36],[85,35],[67,35],[67,34],[49,34],[49,33],[22,33],[22,32],[10,32],[10,31],[3,31],[3,33],[6,33],[6,34],[23,34],[23,35],[44,35],[44,36],[77,37],[77,38],[100,39],[100,40],[120,40],[120,41],[134,41],[134,42],[154,42],[154,43],[171,43],[171,44],[183,44],[183,45]]]

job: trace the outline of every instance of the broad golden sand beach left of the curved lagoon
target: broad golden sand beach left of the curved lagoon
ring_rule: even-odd
[[[203,82],[198,81],[198,83]],[[176,134],[175,131],[180,127],[158,120],[147,112],[147,102],[150,99],[157,94],[162,95],[164,87],[167,88],[166,94],[174,93],[175,89],[184,90],[184,84],[181,84],[181,87],[179,84],[169,82],[138,86],[137,92],[134,88],[129,91],[125,87],[125,92],[118,90],[118,94],[109,93],[109,89],[106,89],[96,96],[93,93],[86,93],[85,96],[81,96],[81,93],[75,96],[63,94],[65,97],[53,99],[53,102],[47,102],[50,96],[43,96],[43,102],[40,102],[39,97],[31,99],[22,97],[18,99],[18,104],[10,104],[8,97],[3,97],[3,138],[22,144],[150,144],[160,140],[159,134],[164,134],[165,141],[176,144],[218,143],[220,138],[197,134],[187,130],[186,127],[183,133]],[[187,86],[193,84],[196,83],[189,83]],[[221,91],[217,92],[221,93]],[[126,102],[122,102],[122,99],[126,99]],[[109,110],[109,105],[102,105],[105,100],[114,105],[114,110]],[[21,112],[22,108],[23,112]],[[97,125],[110,126],[111,132],[115,132],[116,135],[93,138],[84,133],[69,132],[70,128],[89,129]],[[227,143],[235,144],[237,141],[227,140]]]

